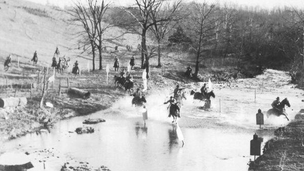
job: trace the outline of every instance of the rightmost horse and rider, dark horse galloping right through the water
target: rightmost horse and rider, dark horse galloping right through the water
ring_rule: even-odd
[[[272,109],[269,109],[267,111],[267,116],[274,114],[276,116],[280,116],[280,115],[284,115],[286,117],[287,120],[288,117],[285,114],[285,105],[287,105],[288,107],[290,107],[289,101],[287,100],[287,98],[283,99],[282,102],[280,102],[280,98],[277,97],[275,101],[273,101],[273,103],[271,104],[271,106],[273,107]]]

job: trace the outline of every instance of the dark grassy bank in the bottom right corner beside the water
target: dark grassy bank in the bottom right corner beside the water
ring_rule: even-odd
[[[263,149],[263,155],[249,163],[249,170],[304,170],[304,109],[287,126],[279,127]]]

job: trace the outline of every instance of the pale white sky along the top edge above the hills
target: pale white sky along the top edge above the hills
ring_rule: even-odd
[[[59,7],[68,6],[71,4],[73,0],[27,0],[34,3],[40,4],[49,4],[56,5]],[[81,0],[84,1],[84,0]],[[185,1],[193,1],[193,0],[185,0]],[[203,0],[196,0],[203,1]],[[247,5],[247,6],[259,6],[265,9],[272,9],[273,7],[295,7],[295,8],[304,8],[304,0],[217,0],[220,3],[228,2],[239,5]],[[119,4],[119,5],[130,5],[134,4],[134,0],[108,0],[107,2],[111,2],[111,4]]]

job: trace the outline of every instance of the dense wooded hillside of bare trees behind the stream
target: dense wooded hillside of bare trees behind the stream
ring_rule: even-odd
[[[293,81],[303,69],[302,10],[163,0],[134,3],[112,8],[106,22],[141,36],[141,66],[147,67],[147,73],[148,59],[158,56],[161,67],[161,57],[169,48],[178,48],[195,60],[196,76],[204,59],[221,59],[222,65],[234,60],[237,72],[244,65],[290,70]],[[155,46],[146,45],[147,37],[155,40]]]

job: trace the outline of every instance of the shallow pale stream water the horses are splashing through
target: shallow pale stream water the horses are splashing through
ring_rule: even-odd
[[[303,91],[292,89],[288,79],[284,72],[268,70],[257,78],[238,80],[234,87],[215,84],[216,98],[210,111],[200,109],[203,103],[193,103],[187,94],[178,120],[184,146],[172,118],[167,118],[167,106],[162,105],[171,92],[159,92],[147,98],[146,124],[142,109],[130,108],[131,97],[125,97],[107,110],[60,121],[50,133],[29,134],[6,142],[0,149],[31,153],[35,167],[29,170],[44,170],[39,160],[46,160],[45,170],[59,170],[64,162],[75,160],[89,162],[95,168],[106,165],[111,170],[248,170],[247,163],[254,158],[249,155],[253,134],[263,137],[264,144],[273,137],[273,129],[288,123],[283,116],[267,118],[264,113],[262,127],[268,129],[259,130],[255,124],[257,109],[270,109],[277,96],[288,97],[291,107],[286,112],[290,119],[300,109]],[[68,133],[88,117],[106,122],[90,125],[95,129],[93,134]],[[43,149],[49,152],[35,152]]]

